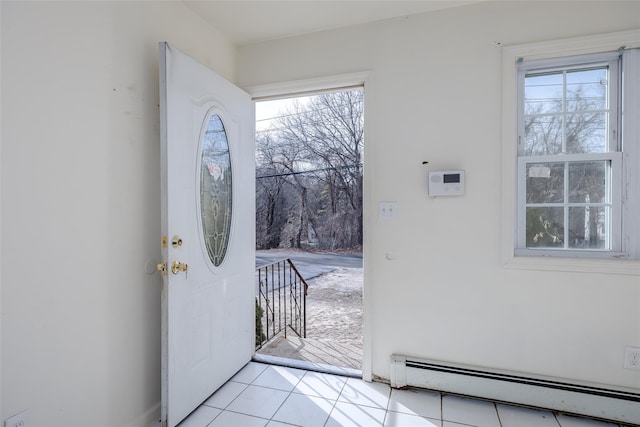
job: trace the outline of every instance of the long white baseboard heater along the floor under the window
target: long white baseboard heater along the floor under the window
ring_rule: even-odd
[[[427,388],[498,402],[640,425],[640,390],[391,356],[391,386]]]

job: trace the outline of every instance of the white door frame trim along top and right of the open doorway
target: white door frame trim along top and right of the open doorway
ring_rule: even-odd
[[[373,89],[373,73],[371,71],[361,71],[349,74],[339,74],[328,77],[317,77],[305,80],[294,80],[289,82],[279,82],[271,84],[263,84],[251,87],[244,87],[254,101],[284,98],[287,96],[310,94],[314,92],[330,91],[341,88],[364,86],[364,133],[367,135],[367,144],[371,144],[374,136],[370,131],[372,128],[370,120],[367,119],[369,112],[372,111],[374,105],[374,89]],[[369,215],[371,209],[366,209],[371,200],[373,200],[373,163],[367,160],[371,150],[364,151],[364,172],[362,178],[363,194],[362,194],[362,255],[363,255],[363,284],[362,284],[362,379],[372,381],[373,379],[373,331],[372,331],[372,244],[369,242],[367,235],[373,227],[373,218]]]

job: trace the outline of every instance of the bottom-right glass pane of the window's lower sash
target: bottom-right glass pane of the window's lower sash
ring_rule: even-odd
[[[576,249],[606,249],[605,207],[569,208],[569,247]]]

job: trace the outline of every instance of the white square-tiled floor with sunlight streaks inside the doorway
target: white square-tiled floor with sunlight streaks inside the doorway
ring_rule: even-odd
[[[180,427],[612,427],[427,390],[250,362]]]

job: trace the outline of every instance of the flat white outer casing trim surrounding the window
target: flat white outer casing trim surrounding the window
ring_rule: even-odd
[[[549,59],[640,47],[640,29],[575,37],[540,43],[504,46],[502,49],[502,230],[501,258],[505,268],[640,275],[640,260],[596,260],[515,256],[516,247],[516,144],[517,74],[519,58]]]

